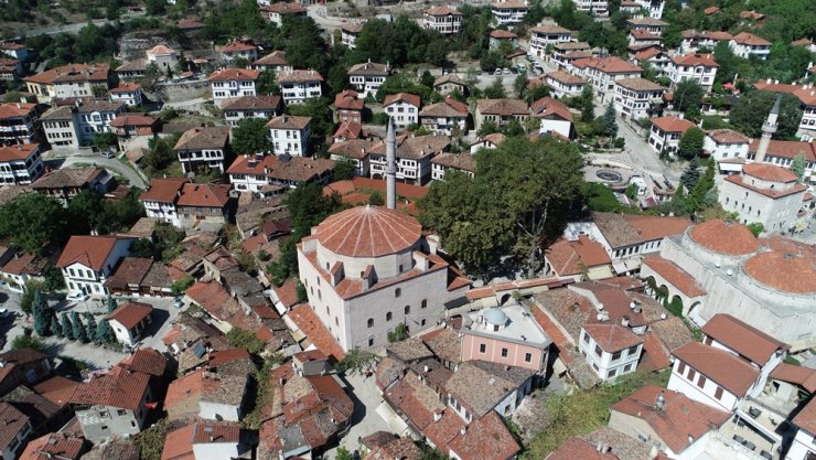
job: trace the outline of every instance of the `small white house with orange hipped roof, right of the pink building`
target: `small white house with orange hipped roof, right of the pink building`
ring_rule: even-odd
[[[602,314],[602,313],[601,313]],[[602,381],[613,381],[637,368],[643,351],[643,339],[629,324],[584,324],[578,350]]]

